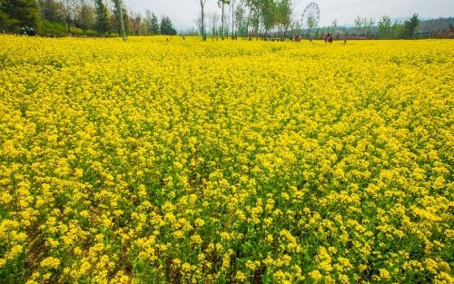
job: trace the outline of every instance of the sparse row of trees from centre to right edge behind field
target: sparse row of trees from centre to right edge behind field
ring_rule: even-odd
[[[224,38],[228,34],[238,36],[277,36],[281,38],[306,35],[307,37],[322,37],[325,33],[335,33],[350,37],[366,38],[412,38],[419,34],[429,37],[432,33],[449,34],[454,19],[437,19],[421,21],[417,14],[407,21],[392,21],[390,16],[384,15],[379,20],[361,18],[354,20],[354,26],[337,26],[334,20],[331,26],[319,27],[315,19],[305,19],[301,22],[301,15],[295,15],[297,0],[218,0],[220,13],[204,11],[207,0],[197,0],[201,8],[199,17],[194,20],[195,29],[190,34],[212,34]],[[228,6],[228,12],[225,10]],[[221,14],[221,15],[219,15]],[[221,24],[219,24],[221,22]],[[230,24],[231,30],[225,28],[224,23]],[[450,25],[449,25],[450,24]],[[446,32],[448,31],[448,32]]]

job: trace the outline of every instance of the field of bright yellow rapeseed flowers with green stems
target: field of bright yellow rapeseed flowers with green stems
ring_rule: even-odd
[[[0,36],[7,283],[452,283],[454,44]]]

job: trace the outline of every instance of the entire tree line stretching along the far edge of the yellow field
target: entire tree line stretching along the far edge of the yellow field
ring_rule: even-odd
[[[217,1],[219,10],[205,11],[207,1]],[[322,38],[324,34],[350,38],[414,38],[453,37],[453,18],[421,20],[417,14],[406,21],[354,19],[352,26],[338,26],[333,20],[329,26],[318,26],[315,19],[301,19],[295,7],[299,0],[195,0],[200,14],[194,26],[182,34],[207,34],[221,37],[279,37]],[[150,10],[144,14],[126,9],[123,0],[0,0],[0,31],[18,33],[28,26],[38,34],[122,34],[121,16],[126,34],[176,34],[172,21],[158,19]]]

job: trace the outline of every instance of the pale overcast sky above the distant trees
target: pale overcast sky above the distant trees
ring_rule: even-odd
[[[193,19],[200,14],[199,0],[123,0],[124,4],[144,15],[145,9],[150,9],[160,19],[167,15],[174,27],[180,31],[194,26]],[[240,0],[237,0],[238,2]],[[301,19],[301,13],[311,1],[293,0],[295,6],[294,18]],[[205,11],[220,10],[217,0],[206,0]],[[317,0],[314,1],[321,10],[320,26],[330,25],[334,19],[338,25],[353,24],[358,15],[361,18],[380,18],[389,15],[391,18],[410,17],[414,13],[419,18],[437,18],[439,16],[454,16],[454,0]]]

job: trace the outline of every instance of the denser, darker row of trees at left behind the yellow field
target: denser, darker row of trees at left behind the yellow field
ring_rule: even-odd
[[[169,17],[128,11],[123,0],[0,0],[0,31],[24,27],[39,34],[176,34]]]

